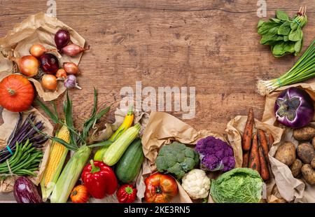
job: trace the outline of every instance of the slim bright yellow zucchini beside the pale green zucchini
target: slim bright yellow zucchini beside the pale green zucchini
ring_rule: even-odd
[[[111,135],[111,138],[109,138],[109,141],[116,141],[128,128],[132,126],[133,122],[134,122],[134,111],[132,107],[130,107],[127,115],[125,116],[123,123],[118,127],[116,132],[113,135]],[[94,160],[102,161],[104,154],[106,153],[108,148],[109,147],[99,148],[99,150],[97,150],[97,152],[94,155]]]

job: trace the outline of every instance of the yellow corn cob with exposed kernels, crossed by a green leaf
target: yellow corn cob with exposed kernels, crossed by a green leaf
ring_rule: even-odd
[[[69,143],[70,133],[68,128],[66,126],[62,126],[56,137]],[[52,142],[48,163],[43,174],[43,179],[41,180],[43,201],[46,201],[50,196],[50,193],[52,193],[52,190],[55,187],[55,183],[57,182],[59,174],[64,165],[64,160],[66,160],[67,153],[68,149],[62,144],[54,141]]]

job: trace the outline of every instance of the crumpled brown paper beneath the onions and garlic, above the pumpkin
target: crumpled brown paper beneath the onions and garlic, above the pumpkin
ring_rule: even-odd
[[[37,13],[31,15],[20,24],[15,25],[13,30],[8,31],[8,34],[3,38],[0,38],[0,49],[5,55],[13,55],[14,57],[22,57],[29,54],[29,48],[36,43],[42,44],[45,48],[55,48],[55,33],[59,29],[68,29],[71,35],[71,42],[76,43],[83,47],[85,45],[85,39],[80,36],[74,29],[65,25],[57,18],[45,15],[45,13]],[[14,48],[14,51],[12,51]],[[13,62],[6,59],[0,52],[0,80],[13,73]],[[76,57],[69,57],[66,55],[60,55],[57,52],[53,52],[59,59],[59,64],[62,66],[63,62],[74,62],[78,64],[82,53]],[[62,94],[66,87],[64,87],[63,81],[58,82],[57,91],[44,90],[41,83],[34,78],[29,78],[34,83],[38,95],[43,98],[44,101],[51,101],[57,99]]]

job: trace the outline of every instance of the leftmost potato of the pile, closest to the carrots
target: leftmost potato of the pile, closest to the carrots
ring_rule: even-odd
[[[276,160],[283,162],[285,165],[292,165],[295,161],[295,146],[291,142],[286,142],[279,146],[275,155]]]

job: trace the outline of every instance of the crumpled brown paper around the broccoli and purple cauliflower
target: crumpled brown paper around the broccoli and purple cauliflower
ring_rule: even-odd
[[[168,113],[152,112],[142,137],[144,155],[147,158],[148,163],[143,167],[143,179],[141,183],[139,183],[139,189],[141,189],[141,192],[144,192],[146,189],[144,178],[156,170],[155,159],[157,158],[158,151],[162,146],[171,144],[172,141],[179,141],[183,144],[195,146],[199,139],[209,136],[214,136],[222,139],[223,141],[227,141],[222,135],[214,132],[209,132],[207,130],[197,132],[197,130],[190,125],[183,123],[181,120],[169,115]],[[241,162],[241,155],[238,155],[237,147],[234,146],[234,144],[231,144],[231,146],[235,152],[234,154],[237,162],[236,167],[240,167],[239,162]],[[179,188],[179,195],[174,197],[172,202],[193,202],[185,190],[183,190],[179,182],[177,182],[177,186]],[[144,195],[142,197],[144,197]],[[209,202],[211,202],[211,199],[209,199]]]

